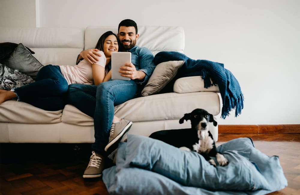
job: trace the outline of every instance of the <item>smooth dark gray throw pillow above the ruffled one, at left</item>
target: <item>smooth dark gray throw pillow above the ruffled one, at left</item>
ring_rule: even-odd
[[[22,43],[18,44],[10,57],[5,59],[2,64],[13,70],[19,70],[33,79],[36,78],[38,71],[43,67]]]

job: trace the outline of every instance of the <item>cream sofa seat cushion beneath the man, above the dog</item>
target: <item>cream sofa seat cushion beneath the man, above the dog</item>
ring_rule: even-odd
[[[190,113],[195,108],[205,109],[213,116],[218,115],[220,113],[219,95],[215,92],[149,95],[115,106],[115,115],[132,122],[160,121],[180,119],[185,113]],[[73,125],[93,125],[91,117],[72,105],[65,106],[61,120]]]

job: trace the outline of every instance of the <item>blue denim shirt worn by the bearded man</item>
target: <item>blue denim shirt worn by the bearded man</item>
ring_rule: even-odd
[[[146,74],[143,80],[136,80],[136,82],[146,84],[155,69],[152,52],[146,47],[139,46],[134,46],[128,52],[131,52],[131,63],[134,64],[135,68]]]

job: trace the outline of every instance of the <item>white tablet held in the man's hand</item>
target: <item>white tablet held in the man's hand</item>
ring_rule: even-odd
[[[120,67],[126,62],[131,62],[131,52],[112,52],[112,80],[130,80],[119,73]]]

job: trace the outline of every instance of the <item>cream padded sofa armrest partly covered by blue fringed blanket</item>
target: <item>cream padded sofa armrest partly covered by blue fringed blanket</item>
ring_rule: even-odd
[[[198,91],[219,92],[219,87],[218,85],[213,85],[205,88],[201,76],[188,76],[177,79],[174,83],[173,91],[176,93],[190,93]]]

